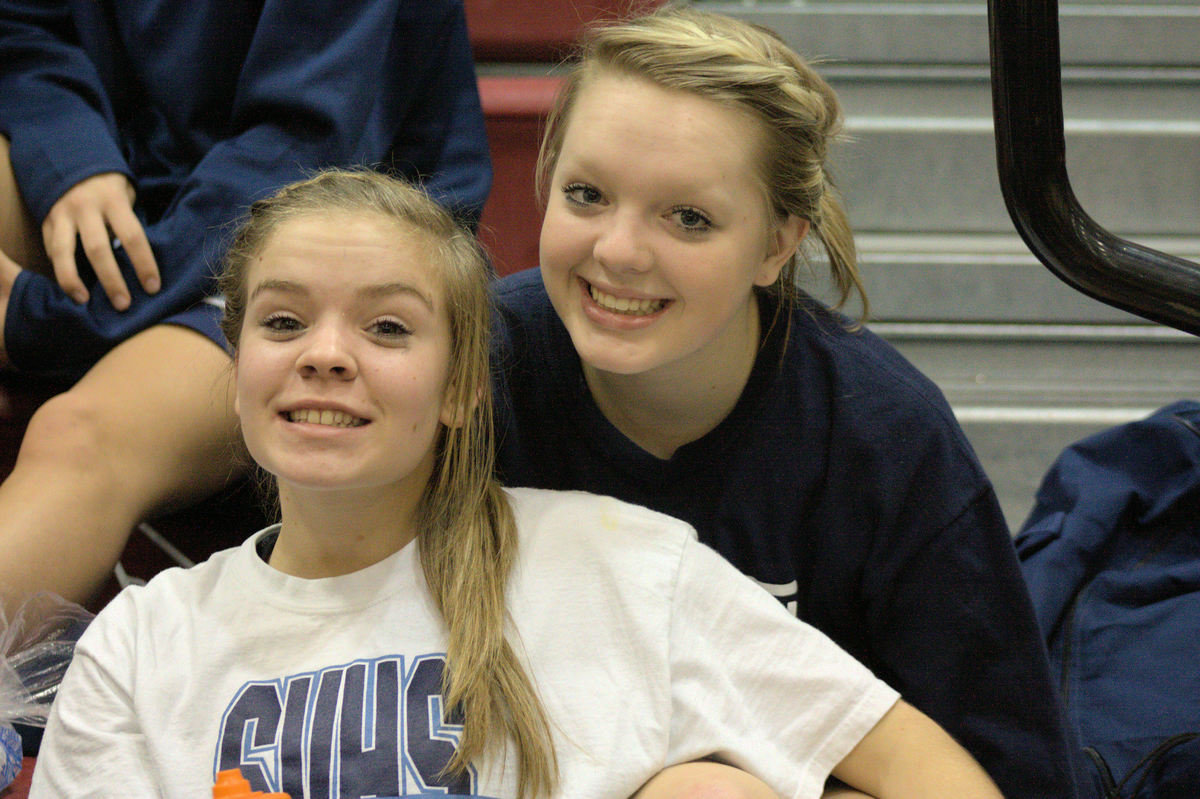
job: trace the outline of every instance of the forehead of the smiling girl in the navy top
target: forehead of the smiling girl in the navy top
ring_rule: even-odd
[[[601,70],[580,85],[559,157],[638,158],[659,180],[757,184],[763,139],[762,124],[746,110]]]

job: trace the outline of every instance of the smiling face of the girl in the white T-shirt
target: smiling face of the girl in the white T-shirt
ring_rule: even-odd
[[[425,489],[451,414],[450,328],[424,244],[382,216],[305,215],[251,263],[236,410],[281,491]]]

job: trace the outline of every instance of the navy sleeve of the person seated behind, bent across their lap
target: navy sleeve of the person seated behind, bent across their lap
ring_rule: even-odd
[[[47,12],[32,22],[48,18]],[[72,53],[71,64],[78,62]],[[76,86],[53,77],[42,83]],[[61,95],[48,91],[38,101],[47,114],[79,104]],[[125,313],[115,312],[103,292],[78,306],[53,281],[24,276],[13,288],[5,325],[8,354],[19,368],[82,373],[122,340],[214,293],[214,264],[230,223],[254,199],[313,169],[371,164],[395,170],[424,181],[467,220],[478,218],[486,199],[487,143],[458,1],[266,0],[229,104],[229,136],[199,157],[161,218],[146,226],[163,289],[142,293],[120,251],[133,294]],[[29,122],[34,130],[36,122]],[[24,138],[13,140],[14,167],[18,139]],[[65,143],[46,138],[38,146]],[[26,160],[19,158],[23,187],[38,172],[38,163]],[[48,205],[36,210],[44,214]]]

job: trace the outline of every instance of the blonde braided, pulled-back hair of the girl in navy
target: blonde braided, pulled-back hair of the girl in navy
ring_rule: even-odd
[[[841,133],[841,104],[808,61],[766,28],[692,8],[668,6],[592,29],[546,121],[538,154],[542,199],[576,100],[596,76],[613,73],[691,92],[758,120],[766,143],[758,180],[768,212],[808,220],[809,236],[828,257],[836,306],[857,294],[865,318],[853,233],[827,166],[829,145]],[[772,290],[792,304],[798,280],[793,258]]]

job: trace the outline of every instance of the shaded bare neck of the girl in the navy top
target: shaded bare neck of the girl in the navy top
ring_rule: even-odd
[[[638,374],[601,372],[583,365],[600,411],[626,438],[659,458],[670,458],[730,415],[750,379],[758,354],[758,304],[700,349]]]

